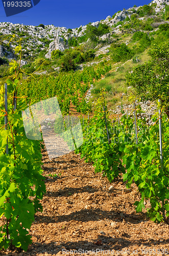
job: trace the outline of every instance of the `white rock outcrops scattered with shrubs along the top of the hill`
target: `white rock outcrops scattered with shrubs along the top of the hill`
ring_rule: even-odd
[[[169,5],[169,0],[153,0],[149,5],[152,4],[156,4],[155,11],[156,13],[158,13],[164,10],[165,5]],[[135,11],[137,11],[139,7],[132,7],[127,10],[123,9],[123,11],[116,13],[114,18],[111,18],[111,16],[109,15],[104,20],[101,20],[100,22],[93,22],[91,23],[91,25],[98,28],[99,24],[106,24],[110,28],[112,28],[113,33],[121,33],[120,27],[115,28],[114,25],[116,25],[118,22],[125,20],[127,16],[130,18],[131,15],[135,13]],[[18,34],[19,37],[25,39],[25,41],[23,40],[22,46],[24,46],[24,49],[27,49],[29,51],[27,54],[25,53],[25,56],[32,56],[37,46],[40,51],[46,49],[45,45],[49,44],[50,42],[48,52],[45,55],[45,57],[47,58],[51,57],[51,52],[53,50],[58,49],[60,51],[64,51],[66,48],[68,48],[67,43],[65,43],[64,39],[68,40],[69,38],[85,35],[86,29],[87,25],[80,26],[79,28],[68,31],[68,29],[65,27],[55,27],[54,25],[45,25],[45,28],[43,29],[42,27],[37,26],[25,26],[23,24],[0,22],[0,33],[2,33],[3,35]],[[46,39],[48,40],[48,42]],[[101,39],[107,40],[107,35],[103,35]],[[15,46],[11,45],[11,49],[14,49],[14,47]],[[12,58],[13,53],[9,51],[7,52],[7,49],[5,51],[1,47],[0,56]]]

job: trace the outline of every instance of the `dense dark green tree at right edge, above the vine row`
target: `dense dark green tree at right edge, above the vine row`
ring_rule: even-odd
[[[142,100],[162,101],[162,106],[169,117],[169,41],[162,46],[153,44],[149,50],[151,59],[134,68],[127,74],[127,85],[133,86]]]

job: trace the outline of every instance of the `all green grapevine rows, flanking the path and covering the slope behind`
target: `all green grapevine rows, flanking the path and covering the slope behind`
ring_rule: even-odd
[[[15,52],[20,54],[21,60],[21,46],[16,47]],[[46,177],[41,162],[44,141],[26,137],[22,114],[26,109],[31,109],[33,104],[54,97],[58,99],[62,116],[60,114],[60,118],[54,120],[53,131],[60,134],[70,147],[70,152],[75,148],[78,159],[92,163],[97,177],[102,176],[104,181],[107,178],[106,182],[109,186],[118,179],[122,180],[123,186],[127,188],[126,191],[130,191],[131,186],[135,186],[140,195],[139,200],[137,197],[138,201],[133,202],[132,205],[132,207],[136,206],[134,208],[136,213],[145,210],[145,205],[148,203],[147,217],[157,224],[169,224],[169,121],[167,105],[163,109],[167,101],[165,95],[162,95],[162,99],[165,99],[163,104],[158,103],[159,112],[152,117],[151,126],[147,124],[145,118],[138,118],[142,109],[135,103],[132,113],[126,115],[122,109],[121,118],[112,119],[107,110],[103,89],[100,90],[101,95],[96,102],[88,103],[85,99],[90,84],[111,70],[111,66],[107,66],[105,62],[101,62],[97,67],[86,67],[83,71],[59,73],[56,76],[50,75],[38,79],[22,79],[21,82],[20,62],[18,64],[12,61],[10,66],[10,72],[14,77],[7,80],[5,89],[4,84],[1,84],[0,95],[0,248],[2,250],[21,248],[27,251],[32,243],[31,226],[36,223],[37,216],[44,214],[42,200],[47,195]],[[129,79],[132,80],[134,72],[130,73]],[[83,134],[80,126],[76,134],[72,132],[73,122],[76,126],[79,119],[76,117],[73,119],[71,116],[70,121],[71,105],[81,115]],[[42,106],[45,115],[56,114],[57,103],[55,105],[43,103]],[[88,117],[85,115],[87,113]],[[91,118],[89,113],[92,113]],[[34,120],[33,117],[32,119]],[[72,126],[69,126],[71,122]],[[43,131],[41,130],[40,133],[42,135]],[[79,143],[79,146],[76,139],[80,140],[81,134],[83,143],[82,145]],[[70,153],[71,156],[72,154],[74,153]],[[57,161],[53,159],[53,162]],[[60,174],[57,172],[50,174],[50,177],[59,180],[61,174],[62,172]],[[50,192],[55,193],[55,191]],[[69,192],[68,195],[71,196],[70,194]],[[62,196],[62,193],[59,196]],[[86,200],[90,200],[90,196]],[[99,199],[97,203],[99,204]],[[92,208],[91,205],[85,207],[87,210]],[[53,206],[52,209],[57,209],[57,206]],[[98,208],[97,210],[99,211]],[[98,217],[97,210],[96,217]],[[58,214],[57,210],[55,214]],[[122,212],[120,214],[121,218],[124,217]],[[60,217],[50,216],[50,218],[50,223],[53,224],[52,218]],[[123,221],[125,223],[124,218]],[[123,233],[122,236],[126,234]],[[43,243],[43,240],[41,242]],[[97,240],[94,244],[102,245],[102,240]]]

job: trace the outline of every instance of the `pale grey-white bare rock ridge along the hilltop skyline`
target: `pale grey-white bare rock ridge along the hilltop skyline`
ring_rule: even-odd
[[[161,13],[165,10],[165,5],[168,5],[168,0],[154,0],[149,4],[150,7],[153,6],[153,15],[149,15],[149,18],[156,17],[156,20],[160,16]],[[121,34],[124,32],[123,25],[130,23],[130,19],[133,18],[133,15],[136,13],[138,14],[138,19],[145,20],[146,17],[140,15],[138,10],[142,7],[133,7],[129,8],[128,10],[123,9],[122,11],[117,12],[113,16],[107,16],[106,19],[91,23],[92,26],[98,28],[100,24],[105,24],[109,27],[109,32],[103,34],[99,37],[100,40],[106,40],[107,42],[112,42],[112,36],[115,34]],[[151,14],[151,13],[149,13]],[[125,21],[125,22],[124,22]],[[123,25],[120,23],[124,22]],[[152,27],[153,27],[152,22]],[[158,27],[159,24],[154,25],[154,27]],[[23,24],[12,24],[10,22],[2,22],[0,23],[0,35],[11,35],[16,34],[22,38],[22,46],[24,49],[23,58],[29,59],[30,56],[37,57],[40,52],[43,51],[44,56],[46,58],[51,58],[51,52],[53,50],[60,50],[64,51],[65,49],[69,48],[70,44],[68,41],[72,38],[80,38],[86,34],[87,25],[80,26],[79,28],[68,29],[65,27],[55,27],[53,25],[47,26],[25,26]],[[128,32],[134,32],[138,29],[134,29],[132,26],[131,28],[126,29]],[[142,29],[141,29],[142,30]],[[111,40],[110,40],[111,39]],[[14,48],[13,45],[7,47],[7,42],[4,41],[4,44],[0,45],[0,57],[6,57],[11,59],[14,57],[12,49]],[[83,43],[83,42],[81,42]],[[36,52],[35,52],[36,49]],[[25,63],[25,62],[24,62]]]

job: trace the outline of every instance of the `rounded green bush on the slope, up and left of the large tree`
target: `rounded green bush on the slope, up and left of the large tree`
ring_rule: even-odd
[[[114,62],[125,61],[133,56],[132,50],[126,44],[111,44],[111,58]]]

